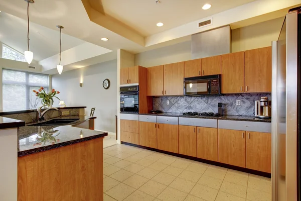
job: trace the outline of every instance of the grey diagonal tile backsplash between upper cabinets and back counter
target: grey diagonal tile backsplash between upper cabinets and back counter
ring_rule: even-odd
[[[254,116],[255,100],[261,96],[271,100],[271,94],[266,93],[238,93],[221,96],[161,96],[154,97],[154,110],[166,113],[186,112],[213,112],[218,113],[218,103],[223,103],[223,115]],[[167,105],[167,100],[170,104]],[[240,106],[236,106],[236,100],[240,100]]]

